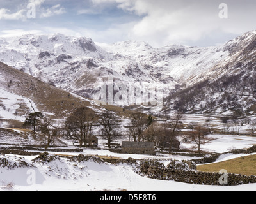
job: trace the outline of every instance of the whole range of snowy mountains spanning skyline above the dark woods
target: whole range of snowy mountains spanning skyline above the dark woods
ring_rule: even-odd
[[[0,38],[0,61],[88,98],[95,98],[97,87],[106,84],[108,77],[123,84],[147,82],[169,96],[180,87],[253,68],[255,45],[256,31],[217,47],[161,48],[140,41],[98,46],[90,38],[26,34]]]

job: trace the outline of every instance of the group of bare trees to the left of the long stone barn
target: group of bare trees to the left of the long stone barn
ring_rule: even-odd
[[[120,136],[120,119],[114,112],[105,111],[96,113],[87,107],[77,108],[72,112],[63,126],[56,126],[49,117],[43,116],[40,112],[30,113],[24,123],[24,128],[40,131],[47,137],[45,149],[49,148],[51,143],[60,136],[79,142],[79,147],[92,145],[93,131],[96,126],[101,126],[101,136],[108,140],[108,147],[111,142]]]

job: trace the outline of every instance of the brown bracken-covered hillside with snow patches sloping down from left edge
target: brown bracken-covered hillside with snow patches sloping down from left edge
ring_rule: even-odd
[[[104,110],[94,101],[46,84],[0,62],[0,124],[21,127],[31,112],[65,119],[79,106]]]

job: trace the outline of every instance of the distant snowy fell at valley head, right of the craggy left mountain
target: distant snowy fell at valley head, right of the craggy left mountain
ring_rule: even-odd
[[[146,43],[136,41],[116,43],[106,49],[113,55],[138,62],[147,69],[150,76],[162,84],[169,83],[171,78],[175,82],[184,83],[192,76],[209,71],[209,68],[228,56],[228,52],[220,47],[168,45],[152,48]]]

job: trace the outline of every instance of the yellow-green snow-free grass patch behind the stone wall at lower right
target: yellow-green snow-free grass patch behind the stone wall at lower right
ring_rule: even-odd
[[[228,173],[241,175],[256,175],[256,155],[239,157],[214,164],[205,164],[197,166],[198,171],[204,172],[219,172],[227,170]]]

